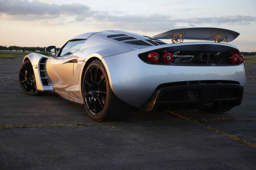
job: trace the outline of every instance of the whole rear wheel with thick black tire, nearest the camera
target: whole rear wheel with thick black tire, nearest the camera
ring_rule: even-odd
[[[109,122],[125,119],[132,107],[111,90],[103,63],[96,59],[88,65],[82,82],[84,107],[91,118]]]

